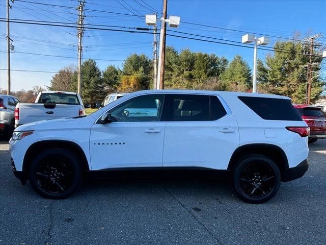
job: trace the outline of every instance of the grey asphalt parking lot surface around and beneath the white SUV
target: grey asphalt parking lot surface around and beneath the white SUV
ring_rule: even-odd
[[[310,168],[252,205],[226,180],[92,180],[46,200],[11,173],[0,141],[0,244],[326,244],[326,140]]]

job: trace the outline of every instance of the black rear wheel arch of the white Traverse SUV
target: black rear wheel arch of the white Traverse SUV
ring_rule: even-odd
[[[229,161],[228,170],[234,168],[238,160],[241,157],[250,155],[250,154],[260,154],[264,155],[275,162],[281,171],[289,167],[288,159],[285,152],[280,148],[280,146],[275,144],[266,144],[266,143],[255,143],[255,144],[245,144],[239,146],[231,156]]]

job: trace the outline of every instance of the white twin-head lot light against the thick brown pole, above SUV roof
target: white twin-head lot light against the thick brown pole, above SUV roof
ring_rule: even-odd
[[[169,27],[175,27],[177,28],[180,24],[180,17],[179,16],[172,16],[170,15],[169,19],[165,18],[157,18],[156,14],[146,14],[145,15],[145,22],[147,26],[156,26],[156,20],[161,21],[161,29],[159,33],[159,56],[158,56],[158,71],[157,71],[157,85],[156,89],[160,89],[161,83],[163,84],[164,81],[162,81],[164,74],[164,70],[162,70],[162,66],[164,66],[164,59],[165,59],[165,22],[169,23]],[[156,70],[154,68],[154,74],[156,73]],[[163,87],[163,86],[162,86]]]

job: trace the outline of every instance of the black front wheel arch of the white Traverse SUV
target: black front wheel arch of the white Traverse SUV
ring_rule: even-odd
[[[83,171],[90,170],[85,152],[77,143],[69,140],[41,140],[31,144],[25,153],[22,165],[22,172],[24,173],[25,178],[28,178],[27,173],[29,171],[32,159],[41,151],[51,148],[61,148],[70,151],[79,159],[79,163],[82,166]]]

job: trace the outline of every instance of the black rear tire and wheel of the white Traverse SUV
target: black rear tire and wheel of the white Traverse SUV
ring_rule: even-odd
[[[263,155],[250,155],[239,160],[233,171],[232,184],[238,197],[247,203],[264,203],[280,188],[278,166]]]

